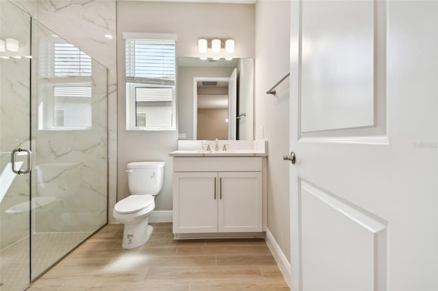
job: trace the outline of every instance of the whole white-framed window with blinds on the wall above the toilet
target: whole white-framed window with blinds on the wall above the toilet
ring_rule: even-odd
[[[123,33],[127,130],[175,130],[175,35]]]

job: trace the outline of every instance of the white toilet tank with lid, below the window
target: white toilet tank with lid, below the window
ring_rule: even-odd
[[[129,163],[129,194],[157,195],[163,188],[164,165],[166,163],[159,161]]]

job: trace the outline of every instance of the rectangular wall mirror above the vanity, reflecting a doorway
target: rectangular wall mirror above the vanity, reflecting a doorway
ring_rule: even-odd
[[[178,59],[180,139],[253,139],[254,59]]]

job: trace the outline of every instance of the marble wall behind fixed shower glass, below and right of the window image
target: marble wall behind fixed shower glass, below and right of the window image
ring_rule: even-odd
[[[92,232],[107,219],[107,70],[92,61],[92,126],[38,130],[36,197],[55,202],[34,210],[36,232]]]

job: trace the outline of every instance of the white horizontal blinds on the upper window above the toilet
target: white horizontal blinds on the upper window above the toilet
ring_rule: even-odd
[[[126,81],[175,85],[175,40],[125,40]]]

